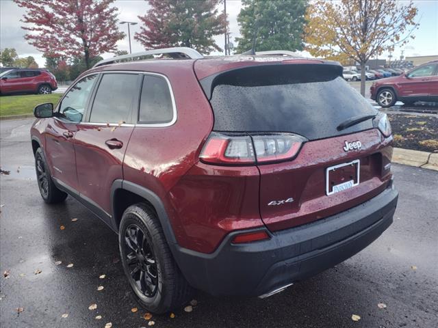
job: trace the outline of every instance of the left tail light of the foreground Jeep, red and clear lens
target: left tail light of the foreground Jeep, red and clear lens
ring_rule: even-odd
[[[200,158],[205,163],[219,165],[255,165],[288,161],[295,158],[305,141],[307,139],[304,137],[289,133],[263,135],[211,133]]]

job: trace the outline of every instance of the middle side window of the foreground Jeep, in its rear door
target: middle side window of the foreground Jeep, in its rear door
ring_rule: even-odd
[[[128,122],[137,85],[138,74],[104,74],[94,98],[90,122]]]

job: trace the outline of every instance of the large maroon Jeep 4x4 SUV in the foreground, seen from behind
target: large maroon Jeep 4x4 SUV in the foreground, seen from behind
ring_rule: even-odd
[[[157,53],[174,59],[96,64],[55,109],[37,106],[31,127],[43,200],[71,195],[118,233],[149,311],[194,288],[268,297],[391,225],[389,121],[342,66],[188,48],[135,56]]]

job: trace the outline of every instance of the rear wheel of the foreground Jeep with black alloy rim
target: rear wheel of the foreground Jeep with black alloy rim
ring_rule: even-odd
[[[120,221],[118,240],[123,270],[140,305],[162,314],[190,301],[193,289],[173,259],[151,208],[129,206]]]

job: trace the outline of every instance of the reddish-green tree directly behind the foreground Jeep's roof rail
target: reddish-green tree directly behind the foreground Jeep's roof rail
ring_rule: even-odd
[[[151,9],[138,16],[144,26],[134,36],[146,49],[188,46],[207,54],[222,51],[213,38],[227,27],[225,14],[217,8],[222,0],[148,2]]]

